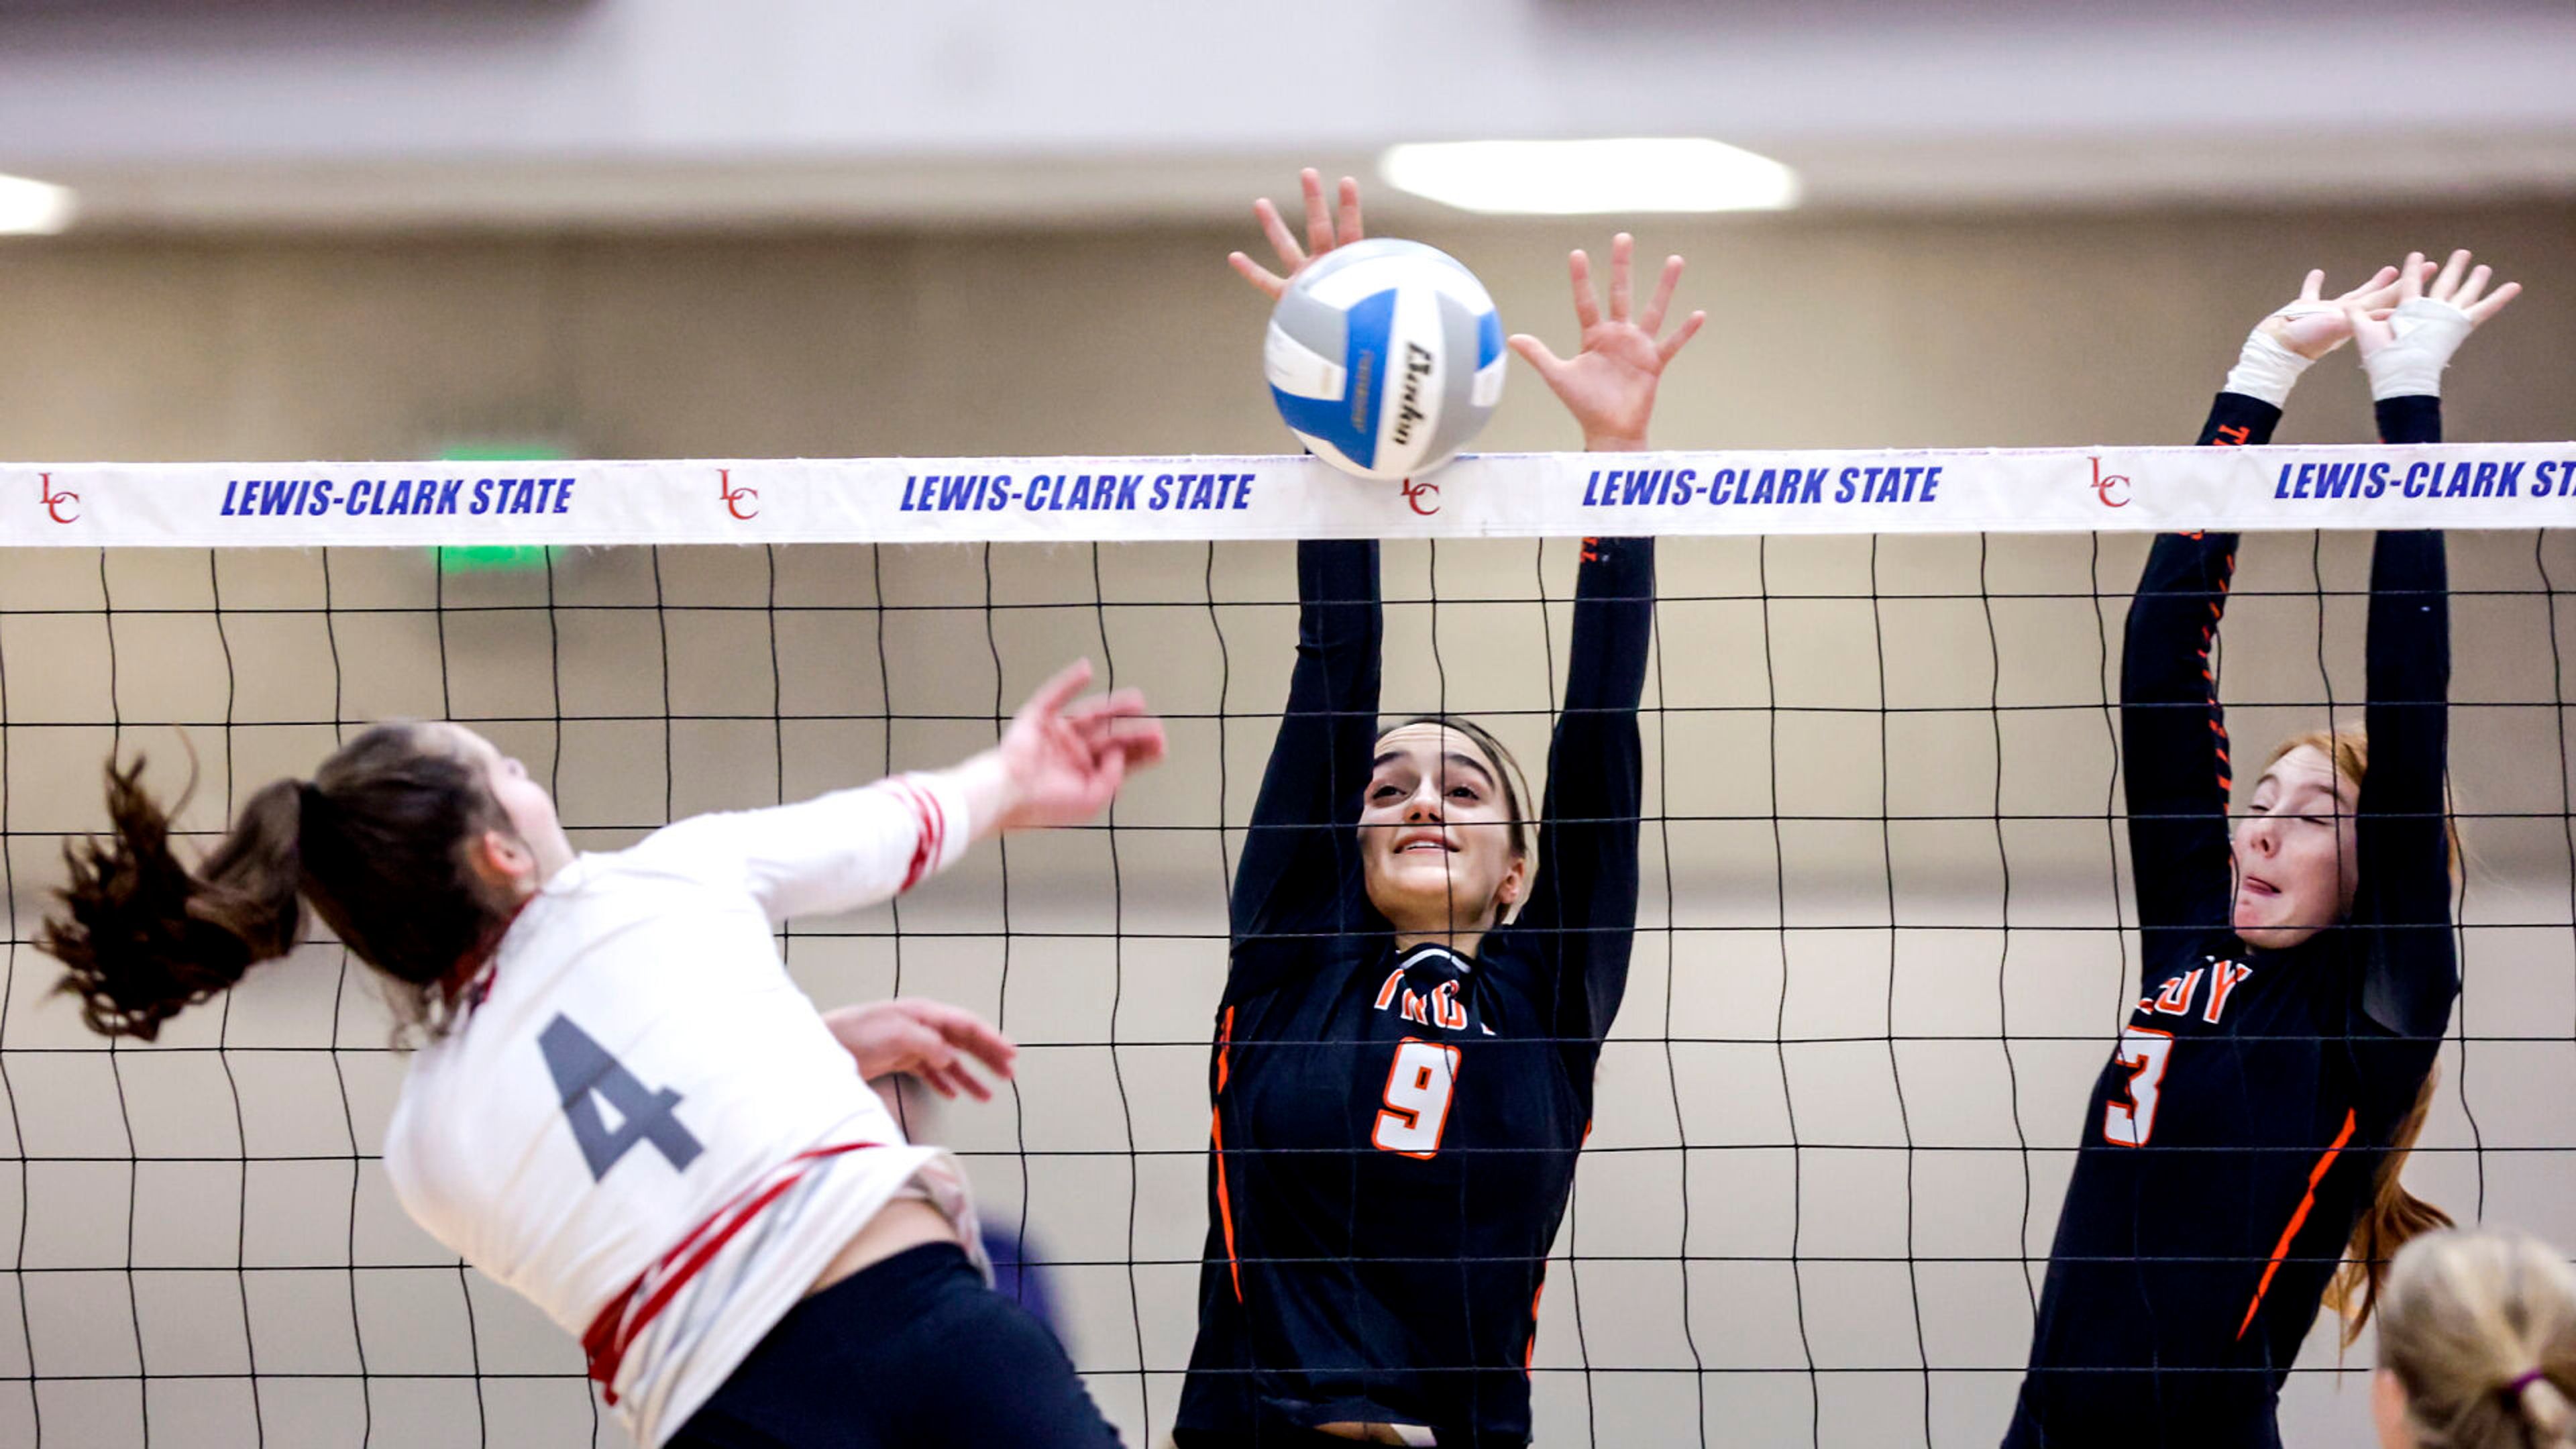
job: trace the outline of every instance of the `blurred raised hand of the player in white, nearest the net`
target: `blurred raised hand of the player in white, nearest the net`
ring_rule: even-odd
[[[1074,701],[1090,681],[1090,660],[1064,665],[1012,714],[999,745],[961,766],[976,835],[1090,820],[1128,771],[1162,761],[1162,719],[1144,694]]]

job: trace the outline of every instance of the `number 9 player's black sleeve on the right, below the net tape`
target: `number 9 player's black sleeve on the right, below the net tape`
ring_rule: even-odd
[[[1558,987],[1558,1036],[1600,1039],[1628,990],[1643,745],[1636,704],[1654,634],[1654,539],[1584,539],[1566,704],[1548,743],[1528,928]]]

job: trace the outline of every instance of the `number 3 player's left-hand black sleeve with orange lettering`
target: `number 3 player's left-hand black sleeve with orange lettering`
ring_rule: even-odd
[[[2221,392],[2200,443],[2269,443],[2280,407]],[[2159,534],[2120,647],[2120,758],[2143,959],[2159,931],[2228,923],[2228,724],[2210,645],[2236,572],[2236,534]]]

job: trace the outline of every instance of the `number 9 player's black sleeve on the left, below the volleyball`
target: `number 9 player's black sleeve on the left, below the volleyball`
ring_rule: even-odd
[[[1288,709],[1234,871],[1234,938],[1352,931],[1360,792],[1378,737],[1378,544],[1296,549],[1298,642]]]

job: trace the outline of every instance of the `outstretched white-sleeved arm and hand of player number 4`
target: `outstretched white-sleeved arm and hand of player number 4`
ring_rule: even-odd
[[[876,905],[966,853],[971,841],[1090,820],[1128,771],[1162,761],[1162,722],[1123,688],[1074,701],[1077,660],[1020,706],[1002,740],[948,771],[889,776],[770,810],[696,815],[639,851],[693,874],[732,871],[773,920]]]

